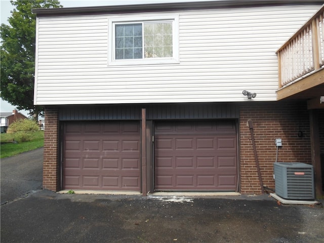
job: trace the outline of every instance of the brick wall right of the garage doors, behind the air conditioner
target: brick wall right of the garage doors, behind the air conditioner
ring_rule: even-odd
[[[240,105],[240,188],[241,193],[261,193],[248,120],[252,119],[263,185],[274,188],[274,140],[282,139],[279,162],[311,164],[309,113],[306,102],[246,102]],[[298,132],[303,137],[298,137]]]

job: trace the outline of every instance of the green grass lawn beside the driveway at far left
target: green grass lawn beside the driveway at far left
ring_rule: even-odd
[[[28,136],[30,138],[30,141],[12,143],[13,139],[19,141],[19,136],[16,133],[2,133],[0,135],[1,142],[10,143],[1,144],[0,157],[10,157],[22,152],[33,150],[36,148],[41,148],[44,146],[44,131],[24,132],[24,135]]]

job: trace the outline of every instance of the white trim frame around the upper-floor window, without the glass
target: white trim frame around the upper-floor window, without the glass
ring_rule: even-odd
[[[115,24],[172,21],[173,57],[115,60]],[[179,63],[179,15],[116,17],[108,19],[108,65],[146,65]]]

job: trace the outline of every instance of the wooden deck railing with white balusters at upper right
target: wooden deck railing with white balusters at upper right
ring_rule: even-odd
[[[324,65],[324,5],[276,52],[279,89]]]

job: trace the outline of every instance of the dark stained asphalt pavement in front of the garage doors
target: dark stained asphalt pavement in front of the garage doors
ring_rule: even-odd
[[[34,188],[1,206],[1,242],[324,242],[324,209],[280,205],[266,194],[143,197]]]

